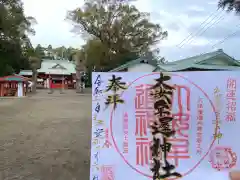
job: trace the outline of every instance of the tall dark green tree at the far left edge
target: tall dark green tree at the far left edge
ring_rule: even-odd
[[[36,21],[24,15],[20,0],[0,1],[0,19],[0,75],[18,73],[28,68],[23,45]]]

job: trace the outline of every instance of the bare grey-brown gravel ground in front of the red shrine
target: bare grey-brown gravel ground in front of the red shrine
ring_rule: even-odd
[[[88,180],[91,95],[0,99],[0,180]]]

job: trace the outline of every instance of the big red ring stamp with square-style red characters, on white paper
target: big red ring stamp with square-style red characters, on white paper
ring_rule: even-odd
[[[138,102],[140,99],[142,103],[142,100],[145,98],[142,98],[141,96],[141,98],[136,100],[132,96],[134,93],[136,93],[135,91],[137,91],[135,90],[136,87],[140,87],[143,84],[145,86],[149,85],[146,84],[146,82],[151,82],[152,79],[156,78],[158,74],[159,73],[151,73],[137,78],[130,83],[129,87],[132,88],[128,88],[129,93],[122,93],[121,96],[128,100],[132,98],[134,103]],[[172,151],[168,153],[167,158],[169,162],[175,166],[176,171],[181,173],[182,176],[187,176],[201,165],[201,163],[208,157],[210,150],[215,145],[216,138],[206,137],[212,137],[212,133],[217,133],[217,123],[213,124],[212,122],[206,120],[209,119],[209,117],[212,117],[213,119],[217,118],[215,113],[216,109],[211,101],[211,98],[205,91],[203,91],[201,87],[199,87],[199,85],[195,84],[188,78],[185,78],[181,74],[171,74],[171,76],[173,77],[172,83],[178,83],[176,85],[177,90],[175,96],[173,97],[173,104],[175,104],[173,106],[174,108],[172,109],[173,114],[176,115],[174,120],[177,123],[174,124],[174,126],[175,128],[177,127],[176,129],[178,134],[174,138],[169,139],[169,142],[171,140]],[[193,92],[193,95],[188,96],[188,93],[191,94]],[[179,95],[182,95],[182,97]],[[142,114],[137,114],[136,107],[138,107],[139,104],[136,105],[131,102],[132,101],[129,100],[129,106],[125,106],[122,109],[119,109],[119,111],[111,111],[110,132],[113,146],[123,161],[131,169],[145,177],[152,178],[152,173],[150,172],[149,168],[149,165],[151,164],[151,152],[149,152],[151,135],[149,136],[149,140],[149,132],[146,125],[147,123],[145,122],[145,119],[147,118],[144,119],[145,115],[143,117]],[[129,107],[135,108],[135,111],[132,111],[132,109],[129,110]],[[194,109],[197,110],[197,112]],[[204,110],[206,110],[207,113],[203,113]],[[140,112],[142,113],[142,111]],[[119,134],[124,132],[124,130],[119,128],[119,122],[121,122],[123,118],[122,116],[119,116],[120,113],[127,113],[126,119],[134,118],[134,121],[127,120],[128,125],[126,128],[126,137],[125,134],[123,136],[119,136]],[[196,119],[198,120],[197,122]],[[147,120],[151,119],[149,118]],[[123,122],[125,122],[125,120],[123,120]],[[203,124],[205,124],[204,127],[202,126]],[[124,123],[122,126],[125,127]],[[191,129],[189,129],[190,127]],[[206,127],[207,129],[205,129]],[[201,131],[198,131],[198,129],[201,129]],[[196,134],[192,132],[196,132]],[[192,139],[195,138],[196,141],[192,141]],[[128,146],[128,143],[131,144],[131,146]],[[125,144],[127,145],[125,146]],[[200,146],[202,151],[201,154],[197,154],[199,144],[202,145]],[[131,154],[129,152],[131,152]],[[182,162],[184,162],[184,164],[182,164]]]

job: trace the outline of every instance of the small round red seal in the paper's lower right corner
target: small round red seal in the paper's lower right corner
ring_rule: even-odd
[[[237,155],[229,147],[218,146],[210,153],[210,163],[212,168],[218,171],[231,169],[236,165]]]

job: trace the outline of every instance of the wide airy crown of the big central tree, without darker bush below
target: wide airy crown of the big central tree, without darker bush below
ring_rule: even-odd
[[[149,21],[149,14],[124,3],[88,0],[83,7],[69,11],[67,19],[76,33],[88,33],[100,40],[107,48],[108,61],[122,54],[143,55],[167,37],[159,24]]]

